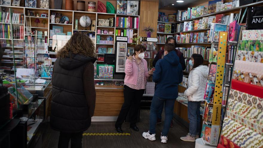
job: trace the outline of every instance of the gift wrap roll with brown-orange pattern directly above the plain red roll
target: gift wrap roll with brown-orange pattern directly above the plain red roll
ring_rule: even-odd
[[[263,87],[263,74],[234,70],[232,79]]]

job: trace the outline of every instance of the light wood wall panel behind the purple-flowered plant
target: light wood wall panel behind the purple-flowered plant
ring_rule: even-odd
[[[154,32],[152,37],[156,37],[157,20],[158,20],[159,2],[140,1],[140,30],[139,35],[146,37],[146,32],[143,31],[146,27],[152,27]]]

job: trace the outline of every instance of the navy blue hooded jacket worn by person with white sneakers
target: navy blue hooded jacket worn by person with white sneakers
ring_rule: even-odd
[[[183,80],[183,71],[175,51],[157,61],[152,80],[157,83],[154,95],[174,100],[178,97],[178,84]]]

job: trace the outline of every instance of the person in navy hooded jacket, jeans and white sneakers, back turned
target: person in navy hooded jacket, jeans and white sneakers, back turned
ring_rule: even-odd
[[[182,66],[175,50],[175,44],[168,43],[164,47],[164,57],[155,65],[152,80],[156,83],[150,110],[150,130],[143,132],[143,137],[155,141],[157,113],[164,103],[165,120],[161,132],[161,142],[167,142],[167,135],[172,121],[175,100],[178,97],[178,84],[183,80]]]

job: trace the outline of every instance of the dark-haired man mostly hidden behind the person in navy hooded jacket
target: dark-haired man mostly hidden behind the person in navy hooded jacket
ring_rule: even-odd
[[[175,38],[174,37],[168,37],[167,39],[166,39],[166,42],[165,42],[166,44],[167,43],[174,43],[175,44],[175,48],[176,48],[176,42],[175,42]],[[176,54],[177,54],[177,56],[179,57],[179,62],[181,63],[181,66],[182,66],[182,70],[185,70],[185,60],[184,60],[184,55],[183,55],[183,53],[181,52],[181,51],[179,51],[179,50],[177,50],[177,49],[175,49],[175,52],[176,52]],[[154,58],[154,60],[153,60],[153,62],[152,62],[152,66],[153,67],[155,67],[155,64],[156,64],[156,62],[159,60],[159,59],[162,59],[162,57],[163,57],[163,54],[164,54],[164,50],[160,50],[157,54],[156,54],[156,56],[155,56],[155,58]],[[159,124],[159,123],[162,123],[162,113],[163,113],[163,106],[160,106],[160,110],[159,110],[159,112],[158,112],[158,114],[157,114],[157,124]],[[171,125],[170,125],[170,127],[173,127],[173,123],[171,122]]]

